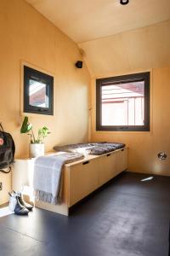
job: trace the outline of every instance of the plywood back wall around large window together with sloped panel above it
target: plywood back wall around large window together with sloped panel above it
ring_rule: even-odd
[[[129,171],[170,175],[170,21],[99,38],[79,47],[93,77],[91,140],[126,143]],[[150,132],[96,131],[95,79],[150,71]],[[157,154],[167,153],[160,161]]]

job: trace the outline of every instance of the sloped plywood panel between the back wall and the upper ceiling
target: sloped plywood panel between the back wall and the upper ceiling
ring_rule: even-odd
[[[91,76],[170,66],[170,20],[79,44]]]

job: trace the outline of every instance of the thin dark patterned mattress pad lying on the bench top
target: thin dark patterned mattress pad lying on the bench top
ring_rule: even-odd
[[[55,146],[54,150],[77,152],[82,154],[106,154],[116,149],[124,148],[124,143],[77,143],[64,146]]]

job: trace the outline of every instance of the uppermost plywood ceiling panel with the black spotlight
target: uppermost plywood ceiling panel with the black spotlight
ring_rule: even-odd
[[[77,43],[170,19],[170,0],[26,0]]]

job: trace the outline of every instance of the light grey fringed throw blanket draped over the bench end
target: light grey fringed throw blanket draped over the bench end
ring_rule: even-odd
[[[83,157],[83,154],[65,152],[37,157],[33,178],[36,200],[51,204],[61,203],[62,168],[65,163],[81,160]]]

